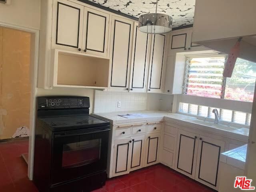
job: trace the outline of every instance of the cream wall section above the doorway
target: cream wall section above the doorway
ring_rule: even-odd
[[[40,28],[40,0],[11,0],[0,3],[0,22],[18,26]]]

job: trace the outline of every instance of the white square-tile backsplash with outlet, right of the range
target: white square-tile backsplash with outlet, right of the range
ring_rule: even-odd
[[[121,107],[118,108],[118,102]],[[95,90],[94,113],[146,110],[146,93],[105,92]]]

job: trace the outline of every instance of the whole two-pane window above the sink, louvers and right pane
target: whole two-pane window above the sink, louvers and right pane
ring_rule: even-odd
[[[225,56],[186,59],[183,93],[252,102],[256,63],[238,58],[231,78],[224,78]]]

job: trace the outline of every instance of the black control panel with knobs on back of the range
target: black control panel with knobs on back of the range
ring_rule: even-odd
[[[89,108],[88,97],[52,96],[38,97],[38,109]]]

